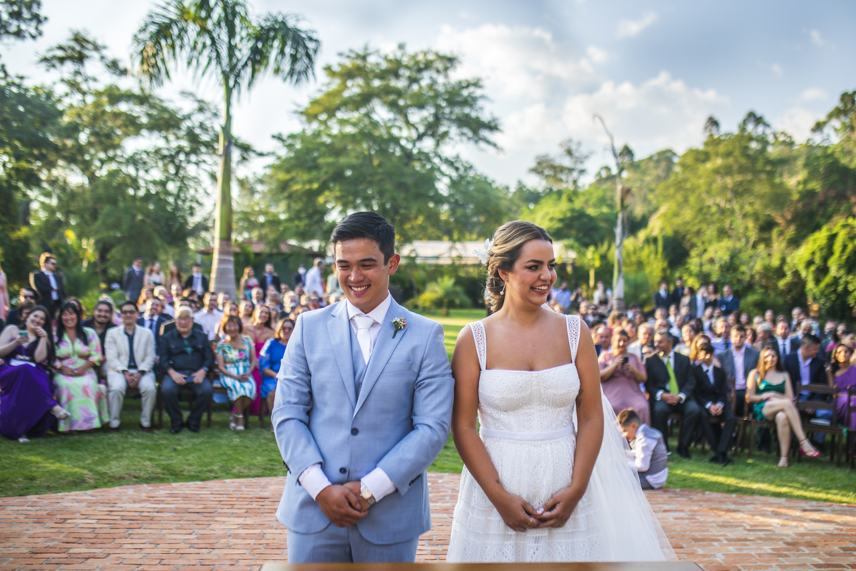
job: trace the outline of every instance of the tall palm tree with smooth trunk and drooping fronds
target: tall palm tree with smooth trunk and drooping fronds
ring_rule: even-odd
[[[134,34],[136,71],[152,86],[170,79],[171,66],[183,64],[199,75],[215,75],[223,87],[211,291],[229,292],[233,299],[232,99],[268,69],[292,85],[314,76],[320,42],[297,23],[282,14],[253,20],[242,0],[165,0]]]

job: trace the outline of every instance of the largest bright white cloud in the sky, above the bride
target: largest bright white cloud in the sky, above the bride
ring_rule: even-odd
[[[716,90],[694,89],[666,72],[642,83],[609,81],[589,63],[603,61],[607,51],[590,45],[582,53],[539,28],[443,27],[436,47],[461,57],[456,74],[484,78],[487,111],[502,119],[502,132],[494,137],[502,153],[464,145],[457,150],[479,170],[512,186],[520,177],[534,182],[525,173],[535,157],[556,153],[559,141],[568,137],[593,152],[590,172],[608,164],[605,135],[592,122],[594,113],[606,120],[616,144],[626,142],[644,157],[700,144],[707,117],[728,111],[728,98]]]

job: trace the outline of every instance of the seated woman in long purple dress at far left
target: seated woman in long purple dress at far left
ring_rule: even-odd
[[[51,333],[48,310],[38,305],[26,329],[10,325],[0,334],[0,434],[6,438],[29,442],[27,435],[44,436],[56,418],[68,418],[45,368],[54,360]]]

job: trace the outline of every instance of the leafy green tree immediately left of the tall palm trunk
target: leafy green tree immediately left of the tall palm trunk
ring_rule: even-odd
[[[86,291],[118,279],[134,255],[153,259],[200,230],[191,220],[213,168],[215,110],[190,99],[185,111],[122,87],[121,64],[82,33],[51,48],[42,62],[61,75],[63,115],[54,134],[56,166],[33,189],[32,239],[36,250],[62,250],[72,229],[88,244],[92,259],[57,250],[67,274],[94,262],[98,275],[80,278]],[[114,82],[98,81],[93,66]]]

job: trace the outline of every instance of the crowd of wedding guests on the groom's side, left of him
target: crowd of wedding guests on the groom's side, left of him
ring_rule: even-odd
[[[66,295],[56,258],[42,255],[39,266],[33,285],[3,304],[0,322],[0,434],[21,442],[50,430],[116,432],[132,389],[141,402],[138,428],[151,432],[159,428],[152,422],[158,383],[173,433],[199,430],[212,396],[231,403],[230,428],[244,430],[260,400],[267,412],[273,408],[296,316],[336,303],[341,293],[315,291],[326,287],[323,261],[294,273],[294,282],[280,280],[270,264],[261,279],[246,269],[240,299],[232,300],[207,291],[198,264],[184,279],[175,265],[162,272],[157,261],[144,268],[137,257],[122,276],[127,301],[117,308],[104,294],[87,316]],[[214,395],[216,387],[225,394]],[[194,399],[185,416],[179,398],[187,389]]]

